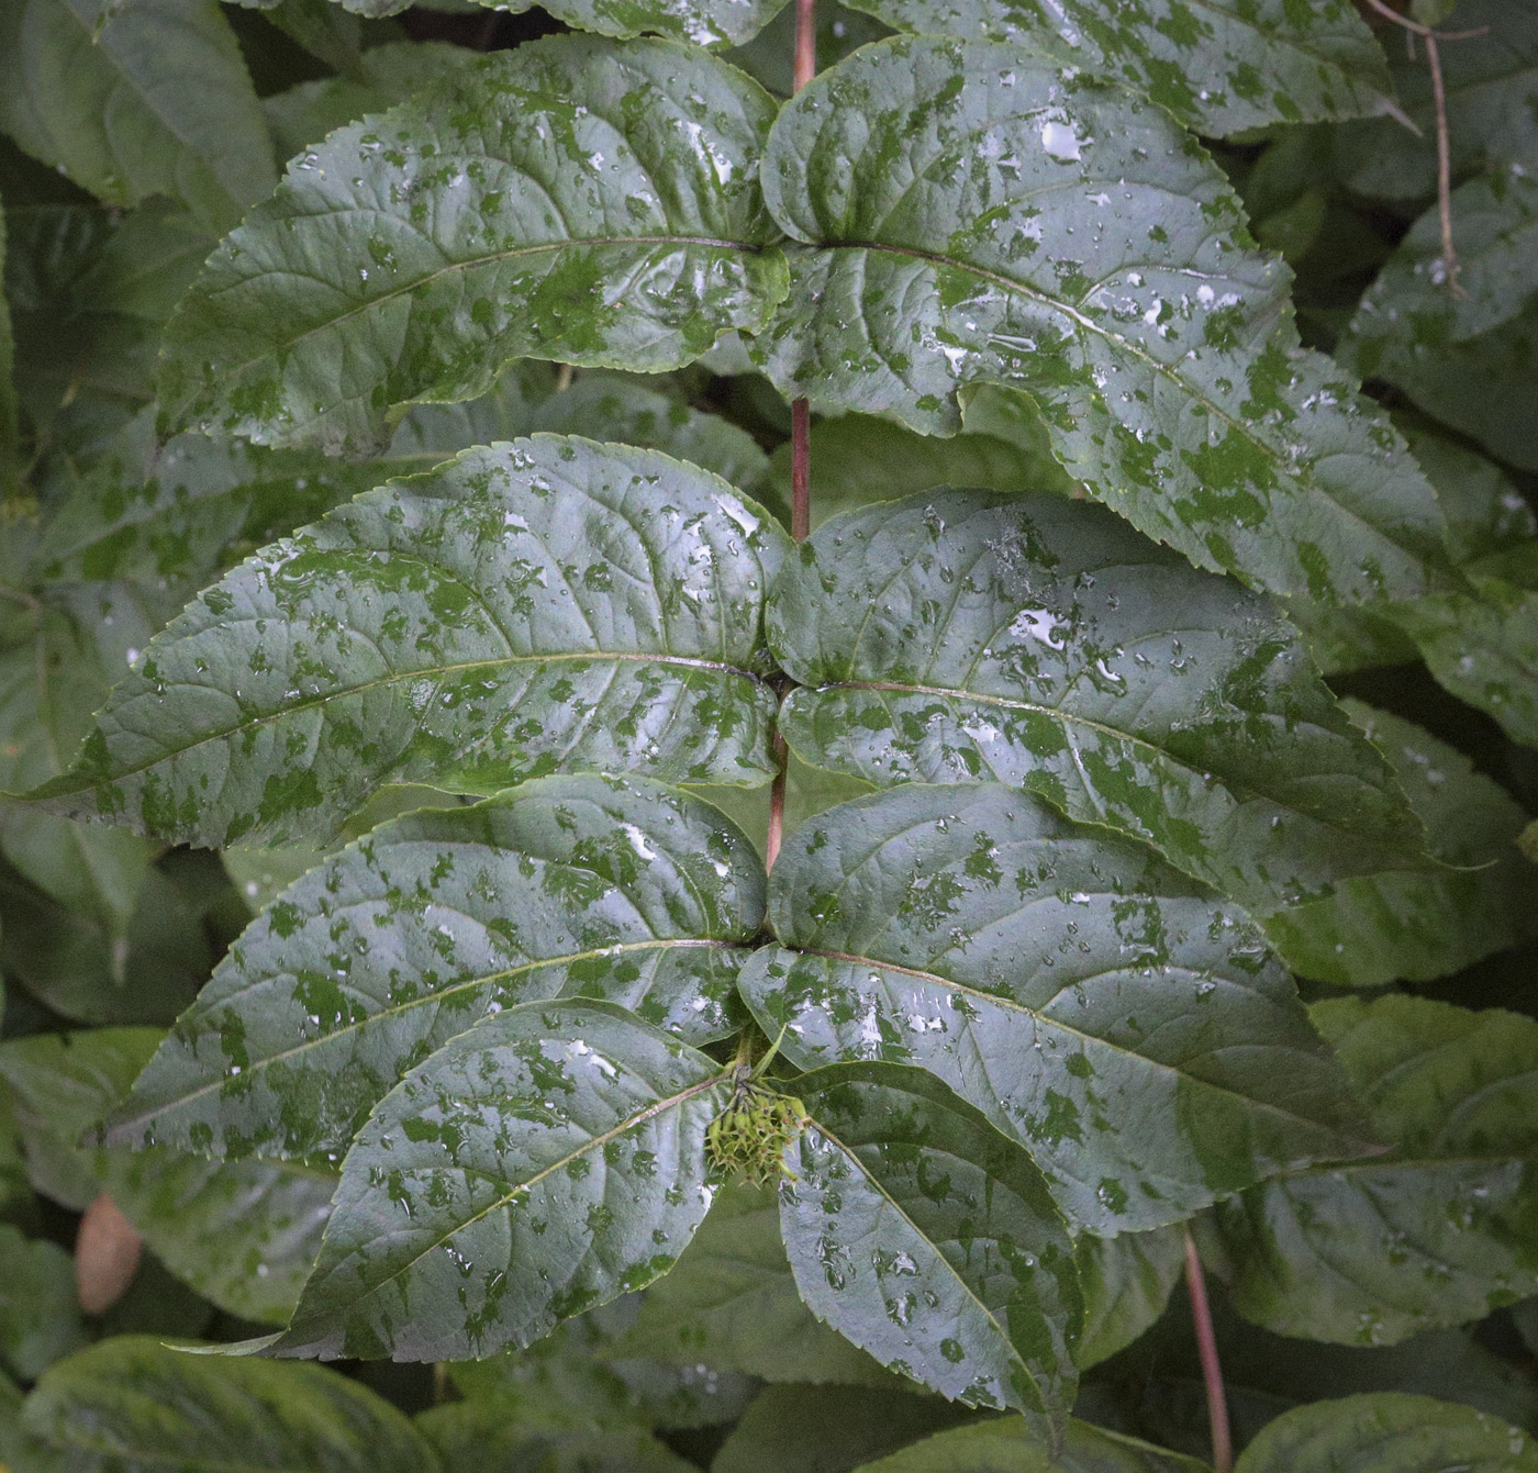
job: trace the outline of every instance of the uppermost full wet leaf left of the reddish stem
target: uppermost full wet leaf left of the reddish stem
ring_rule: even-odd
[[[667,42],[489,57],[300,155],[165,340],[165,429],[369,454],[512,358],[658,371],[784,295],[774,112]]]

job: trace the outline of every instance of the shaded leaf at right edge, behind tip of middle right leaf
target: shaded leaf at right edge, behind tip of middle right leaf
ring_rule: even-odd
[[[1538,867],[1516,847],[1529,823],[1521,806],[1413,723],[1343,704],[1393,764],[1449,869],[1344,879],[1333,895],[1267,916],[1292,970],[1338,987],[1429,981],[1538,936]]]

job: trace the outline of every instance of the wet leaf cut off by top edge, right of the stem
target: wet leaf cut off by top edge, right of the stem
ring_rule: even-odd
[[[1223,137],[1264,123],[1397,111],[1389,68],[1350,0],[858,0],[898,31],[977,35],[1146,92]]]

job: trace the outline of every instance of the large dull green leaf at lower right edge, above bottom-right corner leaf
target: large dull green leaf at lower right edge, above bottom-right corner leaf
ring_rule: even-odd
[[[1223,1204],[1235,1307],[1281,1335],[1393,1344],[1538,1288],[1538,1022],[1426,998],[1310,1010],[1392,1150]]]

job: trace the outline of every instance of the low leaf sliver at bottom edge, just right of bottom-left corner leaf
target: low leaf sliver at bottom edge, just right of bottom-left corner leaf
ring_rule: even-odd
[[[417,1430],[444,1468],[478,1473],[697,1473],[643,1428],[626,1431],[531,1430],[509,1421],[494,1401],[434,1407],[417,1418]]]

